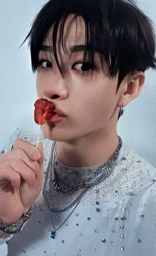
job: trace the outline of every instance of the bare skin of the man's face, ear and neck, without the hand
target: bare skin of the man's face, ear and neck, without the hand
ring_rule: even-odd
[[[50,46],[52,30],[44,42]],[[116,124],[120,107],[135,99],[144,83],[144,74],[127,75],[116,94],[118,76],[106,77],[98,53],[91,68],[82,71],[83,51],[73,52],[74,45],[85,45],[85,24],[81,17],[70,15],[65,22],[63,52],[58,38],[58,57],[63,76],[50,50],[41,50],[38,66],[38,97],[52,101],[65,114],[60,122],[46,122],[42,130],[46,138],[56,140],[59,160],[65,165],[90,167],[108,160],[118,146]]]

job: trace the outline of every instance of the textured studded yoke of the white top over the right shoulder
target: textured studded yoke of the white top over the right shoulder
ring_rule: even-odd
[[[112,199],[120,200],[124,196],[136,193],[141,195],[141,191],[149,192],[150,188],[155,187],[155,181],[156,168],[134,149],[123,144],[111,175],[98,184],[88,196],[104,202],[110,202]]]

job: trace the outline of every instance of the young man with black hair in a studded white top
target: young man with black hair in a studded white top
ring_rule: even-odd
[[[44,155],[35,132],[17,130],[0,158],[9,256],[155,255],[155,168],[116,132],[155,68],[154,37],[130,1],[52,0],[37,15],[32,69],[38,97],[54,108]]]

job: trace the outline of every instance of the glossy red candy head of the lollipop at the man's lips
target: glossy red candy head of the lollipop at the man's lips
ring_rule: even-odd
[[[38,99],[34,103],[34,120],[37,124],[44,124],[48,120],[47,114],[54,108],[54,103],[46,99]]]

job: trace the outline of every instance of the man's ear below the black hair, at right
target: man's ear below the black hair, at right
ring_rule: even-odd
[[[136,71],[136,73],[133,75],[128,75],[128,77],[123,80],[123,90],[120,101],[118,102],[118,106],[126,106],[128,103],[130,103],[130,101],[136,99],[144,83],[145,74],[142,71]]]

